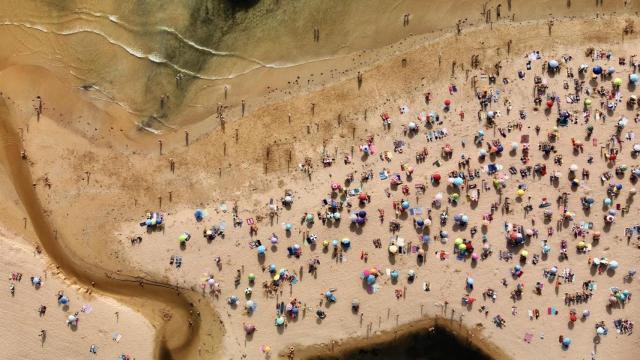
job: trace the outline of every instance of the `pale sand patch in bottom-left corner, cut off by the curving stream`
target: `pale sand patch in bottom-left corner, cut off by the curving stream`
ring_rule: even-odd
[[[153,327],[141,314],[71,286],[64,274],[47,264],[44,255],[14,234],[0,229],[0,241],[4,249],[0,263],[4,292],[0,316],[5,326],[0,346],[4,358],[87,359],[91,345],[97,347],[97,359],[115,359],[122,354],[149,359],[153,355]],[[15,272],[22,273],[21,281],[11,279]],[[32,276],[42,278],[37,289],[31,284]],[[14,296],[9,294],[10,284],[15,285]],[[58,305],[59,291],[69,297],[68,308]],[[41,305],[47,307],[44,316],[38,314]],[[76,312],[80,321],[71,328],[66,321]],[[41,329],[46,330],[44,342],[39,336]]]

